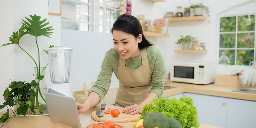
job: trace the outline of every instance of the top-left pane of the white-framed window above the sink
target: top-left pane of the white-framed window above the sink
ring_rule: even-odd
[[[220,18],[220,32],[235,32],[236,31],[236,17],[221,17]]]

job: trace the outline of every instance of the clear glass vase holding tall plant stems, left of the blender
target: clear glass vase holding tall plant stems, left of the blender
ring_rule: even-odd
[[[39,68],[34,67],[34,69],[35,69],[35,72],[36,72],[34,76],[37,77],[37,72],[39,71]],[[41,76],[45,75],[45,70],[46,70],[46,67],[40,67],[39,74]],[[37,88],[34,89],[34,91],[38,93],[38,95],[36,96],[36,99],[35,99],[35,107],[39,108],[40,103],[45,104],[45,100],[44,100],[45,99],[45,94],[44,93],[47,92],[47,85],[45,83],[45,78],[43,78],[42,80],[39,80],[39,82],[38,82],[38,79],[36,79],[35,81],[39,85]]]

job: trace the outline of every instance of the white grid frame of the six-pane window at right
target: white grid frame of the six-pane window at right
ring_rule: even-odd
[[[228,67],[249,67],[249,65],[237,65],[237,50],[254,50],[254,56],[253,56],[253,61],[255,61],[256,58],[256,22],[254,25],[254,31],[237,31],[238,30],[238,16],[245,16],[245,15],[255,15],[256,17],[256,13],[245,13],[245,14],[235,14],[235,15],[223,15],[223,16],[219,16],[217,19],[217,49],[216,49],[216,64],[221,67],[223,66],[223,64],[219,64],[219,51],[220,50],[235,50],[235,64],[234,65],[225,65]],[[236,17],[236,31],[235,32],[220,32],[220,18],[222,17]],[[255,18],[256,21],[256,18]],[[237,48],[237,34],[238,33],[254,33],[254,48]],[[220,45],[220,34],[231,34],[231,33],[235,33],[235,48],[219,48]]]

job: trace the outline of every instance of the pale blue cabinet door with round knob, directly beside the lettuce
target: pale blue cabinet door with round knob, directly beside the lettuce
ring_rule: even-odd
[[[194,101],[199,123],[226,128],[227,98],[185,93]]]

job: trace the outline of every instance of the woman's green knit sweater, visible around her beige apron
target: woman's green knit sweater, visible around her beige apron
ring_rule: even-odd
[[[166,73],[165,61],[159,49],[154,46],[146,48],[148,64],[152,72],[152,88],[150,92],[154,92],[160,98],[164,92],[164,75]],[[100,101],[102,101],[109,90],[111,76],[114,72],[117,76],[117,70],[119,66],[119,53],[111,48],[106,52],[103,59],[100,73],[97,77],[97,81],[92,86],[90,92],[98,93]],[[142,66],[141,55],[136,58],[128,58],[125,60],[125,66],[135,70]],[[90,94],[89,92],[89,94]],[[99,101],[99,102],[100,102]]]

